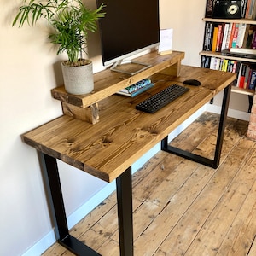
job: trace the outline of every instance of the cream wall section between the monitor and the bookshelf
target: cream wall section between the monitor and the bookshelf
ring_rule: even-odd
[[[173,28],[172,48],[185,52],[183,64],[200,67],[206,0],[160,0],[160,28]]]

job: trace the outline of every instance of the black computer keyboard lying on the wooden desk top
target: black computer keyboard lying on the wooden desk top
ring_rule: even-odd
[[[150,96],[148,99],[137,104],[136,109],[147,113],[155,113],[170,102],[173,102],[179,96],[182,96],[188,90],[189,88],[172,84],[166,89],[156,93],[154,96]]]

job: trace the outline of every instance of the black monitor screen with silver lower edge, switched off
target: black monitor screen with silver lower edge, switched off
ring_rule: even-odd
[[[97,0],[105,4],[99,20],[105,66],[159,45],[159,0]]]

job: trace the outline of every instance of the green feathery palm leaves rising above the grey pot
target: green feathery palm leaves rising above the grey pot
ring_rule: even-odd
[[[49,34],[52,44],[58,45],[57,54],[66,51],[69,61],[77,61],[84,51],[88,32],[96,32],[96,20],[102,18],[103,5],[96,10],[87,9],[80,0],[20,0],[19,12],[13,26],[25,22],[34,26],[39,18],[44,18],[55,32]],[[26,2],[29,2],[26,4]]]

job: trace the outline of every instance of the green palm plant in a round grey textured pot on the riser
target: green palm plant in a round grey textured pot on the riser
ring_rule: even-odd
[[[92,62],[82,54],[88,32],[96,32],[97,20],[105,14],[103,5],[88,9],[81,0],[20,0],[22,2],[13,26],[35,25],[40,18],[51,27],[49,41],[57,45],[57,55],[66,52],[68,61],[61,63],[65,89],[72,94],[85,94],[94,89]]]

